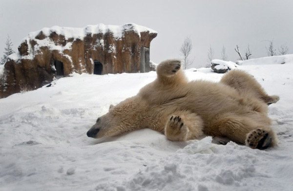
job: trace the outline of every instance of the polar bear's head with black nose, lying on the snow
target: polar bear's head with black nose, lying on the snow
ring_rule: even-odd
[[[99,117],[86,133],[88,137],[102,138],[114,137],[137,129],[140,125],[140,101],[136,97],[130,97],[118,105],[110,105],[109,111]]]

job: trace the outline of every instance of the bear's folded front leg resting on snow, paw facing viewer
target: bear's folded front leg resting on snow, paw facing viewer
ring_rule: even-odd
[[[171,141],[187,141],[203,135],[203,121],[194,113],[177,112],[166,123],[165,135]]]

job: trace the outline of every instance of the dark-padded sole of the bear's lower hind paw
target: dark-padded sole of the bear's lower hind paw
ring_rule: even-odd
[[[245,143],[251,148],[266,149],[272,143],[272,137],[266,130],[256,129],[247,135]]]

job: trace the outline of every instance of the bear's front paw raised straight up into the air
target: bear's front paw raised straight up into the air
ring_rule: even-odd
[[[188,80],[181,70],[181,61],[172,59],[161,62],[157,68],[158,80],[160,83],[187,83]]]

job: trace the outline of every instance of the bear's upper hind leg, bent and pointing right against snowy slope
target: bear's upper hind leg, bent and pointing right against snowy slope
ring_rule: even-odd
[[[230,71],[222,77],[220,82],[233,87],[240,94],[255,96],[268,105],[280,99],[278,95],[268,95],[255,78],[244,71]]]

